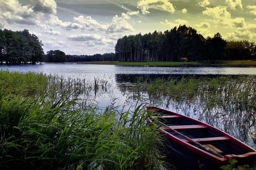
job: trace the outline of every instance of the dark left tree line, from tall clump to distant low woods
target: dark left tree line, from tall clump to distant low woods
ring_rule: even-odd
[[[115,61],[115,53],[66,55],[63,51],[43,52],[43,42],[28,29],[12,31],[0,24],[0,64],[36,64],[36,62]]]

